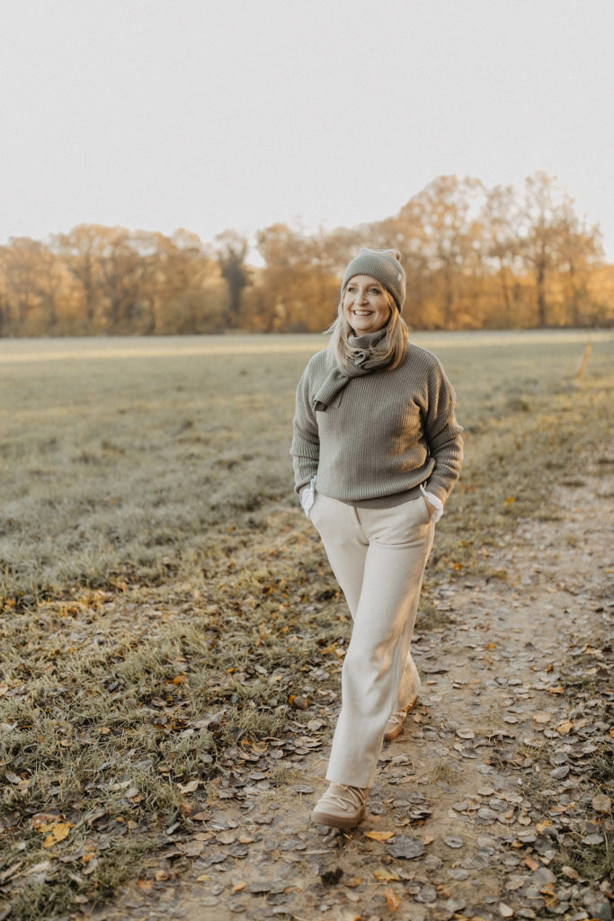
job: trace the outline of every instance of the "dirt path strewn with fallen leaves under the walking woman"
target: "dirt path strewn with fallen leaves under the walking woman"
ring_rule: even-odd
[[[450,623],[415,637],[420,705],[383,752],[360,828],[308,824],[330,730],[321,745],[297,726],[287,744],[237,752],[249,773],[229,772],[213,809],[191,817],[193,841],[92,921],[610,918],[608,880],[588,883],[570,861],[612,834],[590,760],[612,729],[611,678],[605,698],[591,688],[611,668],[613,495],[603,472],[568,484],[556,520],[488,546],[502,577],[431,595]],[[278,784],[286,768],[279,786],[272,764]]]

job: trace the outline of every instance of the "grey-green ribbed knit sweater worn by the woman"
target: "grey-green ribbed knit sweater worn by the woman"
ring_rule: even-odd
[[[318,492],[353,506],[387,508],[420,495],[446,502],[458,480],[462,428],[438,359],[409,344],[400,367],[352,378],[326,411],[313,397],[330,371],[313,356],[296,389],[290,453],[295,490],[318,474]]]

